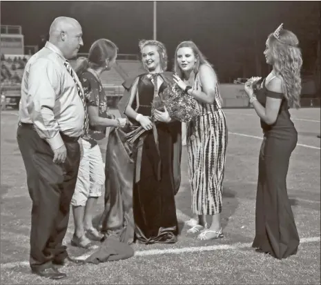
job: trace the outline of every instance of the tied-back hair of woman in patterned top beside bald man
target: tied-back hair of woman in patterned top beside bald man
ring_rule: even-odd
[[[117,55],[117,46],[113,41],[108,39],[97,39],[90,49],[88,54],[88,59],[86,57],[79,57],[77,59],[75,71],[77,75],[81,75],[88,68],[106,67],[106,59],[113,59]]]

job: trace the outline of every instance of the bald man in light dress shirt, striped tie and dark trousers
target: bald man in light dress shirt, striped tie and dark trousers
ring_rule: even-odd
[[[87,113],[81,83],[67,61],[83,45],[81,26],[75,19],[59,17],[49,35],[23,72],[17,141],[32,199],[30,267],[37,275],[61,279],[66,274],[54,264],[75,262],[62,242]]]

